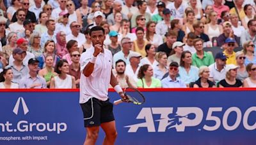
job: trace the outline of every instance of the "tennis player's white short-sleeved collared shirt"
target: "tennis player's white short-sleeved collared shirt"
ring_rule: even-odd
[[[99,53],[92,74],[86,77],[83,74],[83,70],[92,59],[93,52],[94,47],[89,48],[86,52],[82,53],[80,58],[80,104],[87,102],[92,97],[103,101],[108,99],[108,86],[113,63],[112,53],[107,49],[104,49],[104,53]]]

